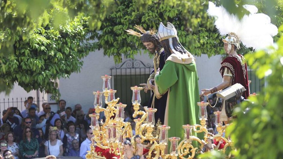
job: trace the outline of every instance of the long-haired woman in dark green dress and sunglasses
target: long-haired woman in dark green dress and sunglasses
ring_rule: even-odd
[[[38,156],[39,144],[36,138],[33,138],[33,132],[30,127],[24,127],[23,139],[19,144],[20,153],[23,159],[36,158]]]

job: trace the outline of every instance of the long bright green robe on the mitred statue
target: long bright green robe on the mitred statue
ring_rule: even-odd
[[[168,108],[168,126],[171,128],[168,137],[180,137],[182,141],[184,139],[182,125],[199,124],[198,78],[194,59],[188,64],[183,64],[182,60],[177,61],[178,63],[173,61],[167,59],[159,75],[155,76],[154,82],[158,86],[159,93],[169,89],[166,108]],[[193,135],[196,136],[196,133],[193,132]]]

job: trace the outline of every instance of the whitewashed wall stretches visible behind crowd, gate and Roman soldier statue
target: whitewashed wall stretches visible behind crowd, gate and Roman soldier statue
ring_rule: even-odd
[[[145,64],[150,63],[153,65],[153,60],[149,58],[148,54],[136,55],[136,59],[141,60]],[[60,79],[59,90],[61,99],[66,100],[66,107],[74,108],[74,105],[79,103],[82,105],[84,112],[93,107],[93,91],[102,90],[101,75],[110,75],[110,68],[115,66],[113,57],[103,55],[103,50],[91,52],[83,59],[84,64],[80,73],[73,73],[70,78]],[[123,59],[125,61],[125,59]],[[199,89],[212,88],[222,81],[219,73],[221,56],[214,56],[208,58],[207,55],[196,57],[197,72],[199,77]],[[111,86],[112,87],[112,86]],[[23,88],[15,84],[14,89],[9,96],[5,93],[0,93],[0,102],[3,98],[27,98],[28,96],[36,97],[36,91],[27,93]],[[40,99],[46,94],[40,94]],[[48,100],[49,102],[52,102]],[[0,103],[2,104],[2,103]],[[1,106],[1,105],[0,105]],[[40,105],[41,108],[41,105]],[[0,108],[1,111],[3,110]],[[57,105],[52,105],[52,110],[57,110]],[[1,113],[2,114],[2,113]]]

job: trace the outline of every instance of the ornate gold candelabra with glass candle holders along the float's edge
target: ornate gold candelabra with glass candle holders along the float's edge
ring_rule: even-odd
[[[87,159],[95,159],[95,158],[105,158],[102,156],[100,152],[95,151],[95,147],[99,147],[101,149],[109,149],[109,153],[113,154],[114,158],[123,158],[123,141],[126,138],[130,138],[132,142],[134,142],[134,136],[132,134],[132,127],[129,122],[124,122],[124,109],[126,108],[126,104],[118,103],[119,98],[115,98],[116,90],[112,90],[110,88],[110,79],[111,76],[105,75],[101,76],[103,79],[103,87],[102,92],[96,91],[94,94],[94,114],[90,114],[91,118],[91,128],[94,136],[92,137],[91,150],[88,151],[86,155]],[[135,118],[135,133],[136,135],[141,136],[141,142],[149,141],[152,145],[149,148],[147,159],[158,159],[162,157],[163,159],[171,158],[177,159],[177,157],[182,159],[193,159],[197,153],[200,153],[205,145],[209,144],[208,139],[213,138],[216,141],[220,141],[221,139],[226,142],[224,148],[221,150],[225,152],[225,149],[228,146],[232,147],[232,141],[228,138],[225,138],[223,133],[225,132],[225,128],[227,125],[223,126],[222,121],[220,120],[221,112],[214,112],[216,116],[216,127],[218,134],[213,135],[207,131],[206,121],[207,121],[207,111],[206,107],[208,102],[198,102],[199,106],[199,120],[201,121],[201,125],[183,125],[184,129],[184,139],[178,144],[181,140],[179,137],[169,137],[168,138],[168,130],[169,126],[160,125],[158,129],[160,130],[159,134],[153,133],[155,119],[154,113],[157,111],[155,108],[145,108],[145,111],[140,110],[141,104],[141,96],[140,91],[142,87],[131,87],[133,92],[132,94],[132,105],[134,107],[133,117]],[[105,104],[107,104],[106,108],[102,107],[102,95],[105,97]],[[118,103],[118,104],[117,104]],[[99,113],[104,112],[106,117],[105,122],[99,122]],[[194,136],[192,131],[195,133],[204,133],[203,140]],[[171,142],[170,150],[167,154],[167,142],[168,140]],[[198,143],[197,146],[194,147],[193,141]],[[135,144],[133,144],[135,146]],[[155,154],[154,157],[152,155]],[[229,154],[228,157],[231,157]]]

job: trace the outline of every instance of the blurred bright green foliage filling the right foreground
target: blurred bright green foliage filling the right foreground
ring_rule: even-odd
[[[265,78],[267,85],[258,96],[250,97],[235,110],[237,118],[227,128],[237,151],[231,151],[236,159],[278,159],[283,156],[283,25],[277,48],[246,54],[247,63],[256,70],[258,78]],[[243,113],[245,112],[245,113]],[[224,159],[213,151],[202,156],[205,159]]]

